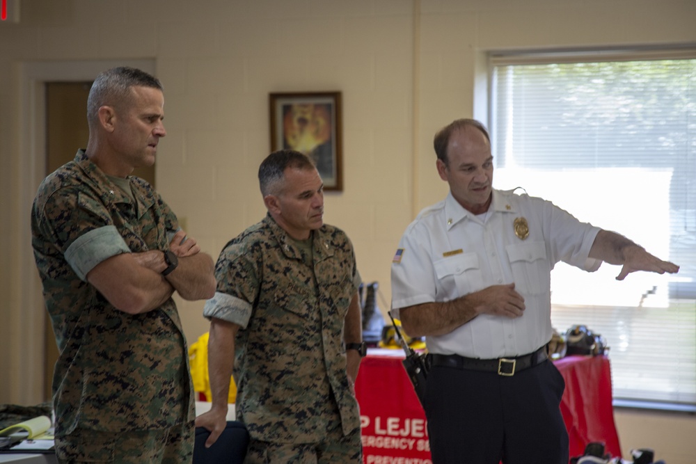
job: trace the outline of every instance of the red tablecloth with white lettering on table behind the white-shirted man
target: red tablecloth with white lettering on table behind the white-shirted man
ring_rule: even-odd
[[[360,367],[356,394],[365,464],[432,462],[425,413],[402,359],[402,355],[369,353]],[[585,445],[595,441],[605,442],[613,457],[621,456],[608,358],[569,356],[555,365],[566,381],[560,408],[570,438],[570,456],[580,456]]]

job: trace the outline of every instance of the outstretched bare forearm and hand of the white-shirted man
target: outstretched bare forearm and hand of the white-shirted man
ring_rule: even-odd
[[[626,275],[635,271],[655,272],[658,274],[679,272],[677,264],[663,261],[623,235],[608,230],[599,231],[590,249],[590,257],[601,259],[609,264],[622,266],[616,280],[624,280]]]

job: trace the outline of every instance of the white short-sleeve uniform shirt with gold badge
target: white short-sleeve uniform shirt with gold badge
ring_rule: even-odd
[[[427,337],[426,344],[430,353],[468,358],[531,353],[551,339],[553,266],[599,269],[601,260],[588,256],[599,230],[526,194],[494,190],[487,214],[475,216],[450,193],[404,232],[392,263],[393,310],[398,316],[402,307],[514,282],[525,300],[522,317],[481,314],[451,333]]]

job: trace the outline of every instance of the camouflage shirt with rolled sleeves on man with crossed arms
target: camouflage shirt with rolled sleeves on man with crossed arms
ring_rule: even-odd
[[[86,274],[120,253],[166,250],[177,218],[147,182],[132,200],[79,150],[39,187],[32,246],[60,355],[56,436],[166,429],[194,418],[187,346],[172,298],[157,310],[116,310]],[[193,442],[191,441],[191,447]]]

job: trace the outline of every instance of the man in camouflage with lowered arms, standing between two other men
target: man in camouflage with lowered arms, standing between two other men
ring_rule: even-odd
[[[259,181],[268,214],[222,250],[205,304],[213,404],[196,426],[211,431],[206,445],[218,438],[234,370],[245,462],[362,463],[353,247],[323,223],[324,184],[305,155],[271,153]]]

